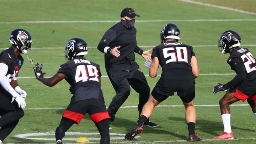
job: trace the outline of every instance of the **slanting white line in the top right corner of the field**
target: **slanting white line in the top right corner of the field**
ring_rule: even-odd
[[[217,7],[219,9],[231,10],[231,11],[241,12],[241,13],[244,13],[244,14],[256,15],[256,13],[254,13],[254,12],[243,11],[243,10],[239,10],[239,9],[233,9],[233,8],[230,8],[230,7],[218,6],[218,5],[213,5],[213,4],[207,4],[207,3],[197,2],[197,1],[192,1],[192,0],[178,0],[178,1],[184,1],[184,2],[189,2],[189,3],[193,3],[193,4],[210,6],[210,7]]]

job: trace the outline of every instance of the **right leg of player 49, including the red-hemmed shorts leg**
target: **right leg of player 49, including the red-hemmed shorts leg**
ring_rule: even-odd
[[[91,117],[91,120],[95,123],[98,128],[98,131],[101,135],[100,144],[109,144],[110,143],[110,134],[109,134],[109,119],[110,116],[106,110],[104,101],[99,99],[89,99],[88,100],[88,114]]]

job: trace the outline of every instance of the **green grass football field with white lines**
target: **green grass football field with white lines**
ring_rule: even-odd
[[[121,11],[126,7],[132,7],[140,15],[135,18],[135,27],[138,46],[143,50],[160,44],[160,31],[166,23],[175,23],[180,28],[179,42],[193,46],[199,67],[195,132],[202,138],[197,143],[255,143],[256,118],[247,101],[230,106],[235,139],[212,138],[224,131],[219,100],[225,94],[223,91],[213,94],[213,87],[216,82],[225,84],[235,77],[226,63],[229,54],[219,52],[218,39],[224,31],[234,30],[241,36],[241,47],[247,47],[256,57],[256,0],[0,0],[0,52],[11,46],[9,36],[16,28],[30,32],[33,41],[28,54],[33,65],[22,54],[24,64],[17,79],[21,89],[27,92],[25,116],[4,143],[55,143],[55,129],[72,96],[69,84],[63,80],[47,87],[34,77],[33,66],[42,63],[44,76],[53,76],[66,62],[64,49],[71,38],[84,39],[89,51],[85,58],[100,65],[101,89],[108,107],[116,93],[106,74],[104,54],[97,46],[103,34],[120,21]],[[159,76],[150,78],[145,59],[135,53],[135,61],[146,75],[150,91],[153,90],[161,68]],[[155,107],[150,121],[159,127],[144,127],[135,139],[125,140],[124,135],[136,126],[139,117],[138,100],[137,92],[131,90],[115,121],[110,123],[111,143],[188,143],[185,108],[176,93]],[[97,127],[88,114],[79,125],[74,124],[67,131],[63,143],[76,144],[79,137],[90,141],[82,143],[100,141]]]

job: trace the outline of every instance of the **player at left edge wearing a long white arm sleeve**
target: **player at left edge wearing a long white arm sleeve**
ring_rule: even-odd
[[[12,46],[0,54],[0,144],[24,116],[27,93],[18,86],[17,77],[23,65],[20,54],[27,54],[32,44],[30,33],[23,29],[12,31],[9,42]]]

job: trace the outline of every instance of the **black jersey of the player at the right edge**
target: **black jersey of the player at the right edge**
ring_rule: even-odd
[[[251,64],[256,63],[256,61],[247,48],[234,49],[230,53],[230,57],[228,58],[227,62],[233,70],[236,63],[243,63],[246,73],[246,80],[256,80],[256,66],[251,66]]]

